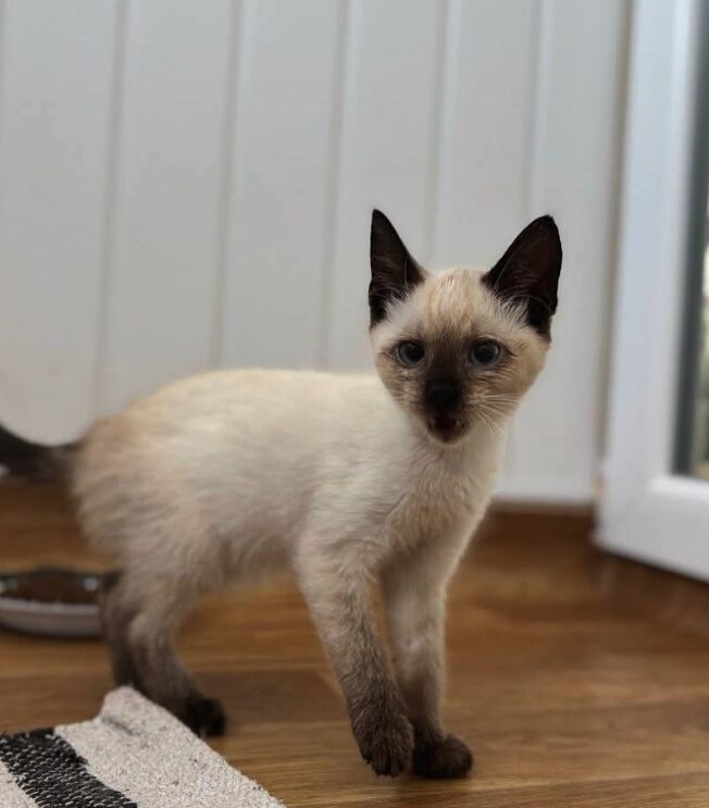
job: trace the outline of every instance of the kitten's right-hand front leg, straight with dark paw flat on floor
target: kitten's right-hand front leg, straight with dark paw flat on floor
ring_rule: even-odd
[[[440,720],[446,589],[457,560],[455,548],[433,545],[399,560],[384,579],[397,681],[414,728],[413,770],[425,778],[460,778],[473,765],[468,746]]]

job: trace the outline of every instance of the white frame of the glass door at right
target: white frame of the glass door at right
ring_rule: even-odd
[[[701,1],[634,4],[598,542],[709,580],[709,484],[673,472]]]

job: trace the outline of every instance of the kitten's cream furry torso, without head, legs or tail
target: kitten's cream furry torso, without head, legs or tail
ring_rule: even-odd
[[[472,535],[505,437],[475,428],[434,443],[375,375],[213,372],[98,422],[73,487],[88,536],[149,580],[251,582],[313,555],[377,574]]]

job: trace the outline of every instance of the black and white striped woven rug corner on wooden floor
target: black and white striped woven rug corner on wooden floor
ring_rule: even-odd
[[[91,721],[0,735],[1,808],[284,808],[129,687]]]

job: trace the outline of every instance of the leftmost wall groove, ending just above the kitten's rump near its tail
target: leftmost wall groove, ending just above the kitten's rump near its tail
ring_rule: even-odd
[[[115,37],[113,76],[111,80],[111,108],[108,133],[105,199],[103,214],[103,257],[99,278],[99,301],[96,322],[96,368],[94,373],[94,410],[99,414],[105,399],[105,356],[109,334],[109,295],[113,274],[113,245],[115,236],[115,207],[117,171],[121,151],[121,117],[125,86],[125,57],[127,47],[128,13],[132,0],[120,0],[115,7]]]

